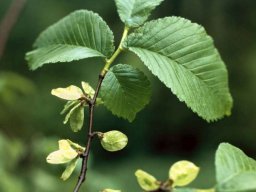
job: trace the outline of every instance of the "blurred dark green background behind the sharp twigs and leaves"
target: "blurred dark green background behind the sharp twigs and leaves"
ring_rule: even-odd
[[[11,0],[0,1],[3,18]],[[70,138],[83,144],[85,130],[78,134],[62,124],[64,102],[50,90],[88,81],[96,84],[102,63],[97,59],[28,70],[24,54],[32,49],[47,26],[77,9],[99,13],[120,39],[123,25],[113,0],[28,0],[0,58],[0,191],[71,191],[79,170],[70,180],[59,179],[64,167],[48,165],[47,154],[57,140]],[[153,84],[152,100],[130,124],[104,107],[96,110],[95,130],[119,129],[129,137],[128,147],[105,152],[95,140],[88,180],[82,191],[103,188],[140,191],[134,172],[144,169],[165,179],[169,166],[181,159],[195,162],[201,173],[192,186],[211,187],[215,182],[214,152],[220,142],[230,142],[256,158],[256,1],[165,0],[150,19],[182,16],[203,25],[214,38],[229,70],[234,98],[231,117],[206,123],[151,76],[133,54],[118,58],[144,70]]]

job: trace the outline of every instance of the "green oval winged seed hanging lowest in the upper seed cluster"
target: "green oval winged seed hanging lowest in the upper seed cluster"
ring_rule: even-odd
[[[78,132],[82,129],[84,124],[84,107],[79,106],[74,109],[69,119],[72,131]]]

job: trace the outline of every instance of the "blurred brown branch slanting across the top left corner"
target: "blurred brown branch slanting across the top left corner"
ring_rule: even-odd
[[[0,59],[3,55],[9,34],[15,25],[27,0],[13,0],[0,23]]]

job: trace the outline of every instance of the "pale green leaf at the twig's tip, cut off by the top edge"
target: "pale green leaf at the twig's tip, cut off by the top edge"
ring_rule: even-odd
[[[163,0],[115,0],[122,22],[128,27],[139,27]]]

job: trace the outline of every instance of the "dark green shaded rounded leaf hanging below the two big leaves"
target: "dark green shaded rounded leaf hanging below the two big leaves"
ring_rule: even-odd
[[[101,87],[104,105],[114,115],[130,122],[149,102],[150,95],[151,86],[147,77],[138,69],[126,64],[112,67]]]

